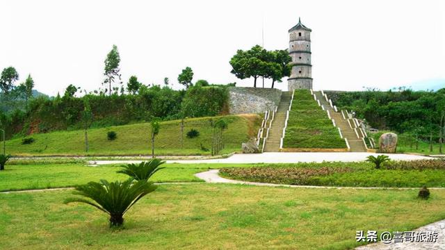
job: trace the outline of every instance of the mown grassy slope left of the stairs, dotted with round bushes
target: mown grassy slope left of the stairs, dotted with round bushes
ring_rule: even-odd
[[[159,135],[156,136],[154,143],[155,154],[163,156],[210,154],[209,151],[203,150],[203,148],[211,148],[210,118],[218,119],[218,117],[186,119],[183,148],[181,148],[181,121],[161,122]],[[225,149],[222,153],[241,151],[241,143],[256,136],[261,123],[259,115],[231,115],[225,116],[225,119],[229,122],[229,126],[223,133]],[[191,128],[200,132],[197,138],[186,137],[186,133]],[[108,140],[106,135],[108,131],[115,131],[118,138],[113,141]],[[86,153],[83,130],[40,133],[31,135],[35,140],[31,144],[22,144],[22,138],[8,140],[6,153],[21,156],[148,155],[152,148],[149,135],[149,123],[92,128],[88,131],[90,151]]]

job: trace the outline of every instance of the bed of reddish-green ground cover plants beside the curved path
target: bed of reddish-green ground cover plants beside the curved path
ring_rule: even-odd
[[[290,185],[350,187],[445,187],[444,160],[389,162],[382,169],[353,163],[329,167],[314,163],[309,167],[245,167],[220,169],[227,178]]]

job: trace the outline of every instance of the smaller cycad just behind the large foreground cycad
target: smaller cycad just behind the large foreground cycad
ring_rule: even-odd
[[[134,178],[136,181],[148,181],[150,177],[159,170],[165,167],[159,167],[164,164],[165,161],[159,159],[152,159],[147,162],[142,162],[139,164],[129,164],[123,166],[124,169],[118,171],[119,174],[127,174],[128,176]]]

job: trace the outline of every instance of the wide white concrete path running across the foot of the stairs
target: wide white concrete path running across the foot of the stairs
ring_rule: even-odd
[[[355,162],[366,160],[368,156],[378,156],[382,153],[366,152],[301,152],[301,153],[237,153],[228,158],[208,160],[167,160],[167,163],[323,163],[323,161]],[[427,156],[417,156],[403,153],[386,154],[391,160],[422,160],[432,159]],[[141,160],[95,160],[91,165],[140,163]]]

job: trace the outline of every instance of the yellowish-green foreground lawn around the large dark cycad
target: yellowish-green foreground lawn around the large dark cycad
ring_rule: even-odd
[[[355,231],[411,231],[445,218],[445,190],[162,185],[108,227],[71,192],[0,194],[0,249],[350,249]],[[403,218],[403,219],[396,219]]]

